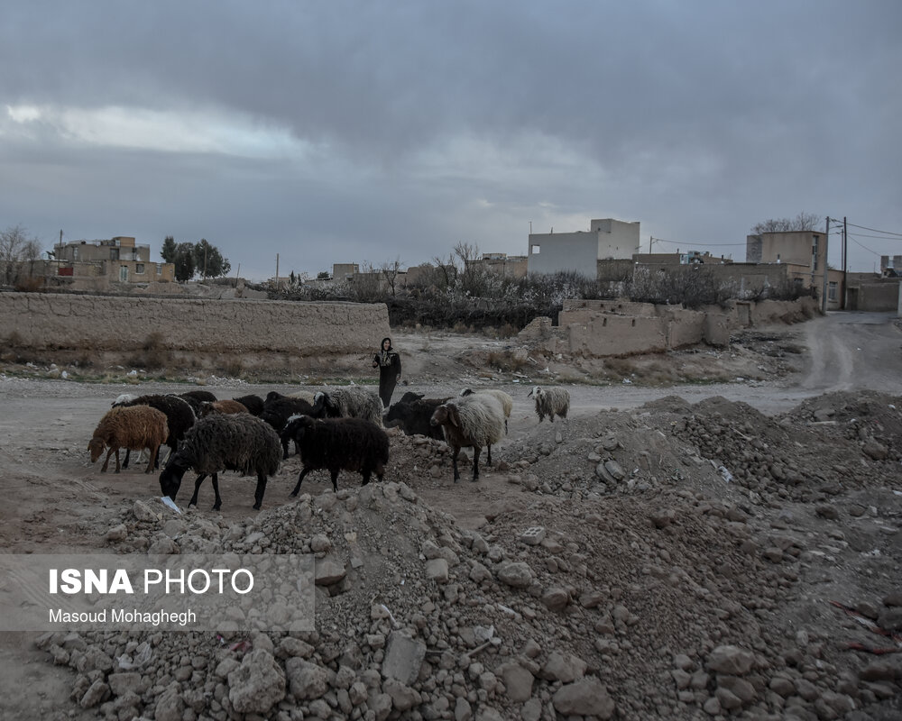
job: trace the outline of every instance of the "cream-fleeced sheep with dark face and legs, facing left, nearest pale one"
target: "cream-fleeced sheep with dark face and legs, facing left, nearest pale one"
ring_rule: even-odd
[[[479,480],[479,454],[488,447],[486,465],[492,465],[492,444],[504,435],[504,411],[498,399],[474,393],[436,408],[432,425],[445,429],[445,441],[451,448],[455,483],[460,479],[457,456],[461,448],[473,448],[473,479]]]

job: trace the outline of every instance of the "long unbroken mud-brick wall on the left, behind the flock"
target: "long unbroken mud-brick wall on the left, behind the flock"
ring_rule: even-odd
[[[384,304],[0,293],[0,339],[36,350],[354,353],[389,333]]]

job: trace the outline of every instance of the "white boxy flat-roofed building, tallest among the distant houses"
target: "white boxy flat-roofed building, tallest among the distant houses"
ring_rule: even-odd
[[[630,260],[639,251],[639,221],[590,221],[588,232],[529,233],[529,275],[570,270],[593,277],[599,260]]]

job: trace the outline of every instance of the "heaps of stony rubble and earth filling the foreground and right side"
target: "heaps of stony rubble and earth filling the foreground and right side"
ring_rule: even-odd
[[[479,487],[453,487],[507,489],[477,530],[420,495],[452,486],[445,444],[397,433],[386,482],[342,474],[338,493],[243,522],[137,501],[106,549],[314,555],[315,627],[236,608],[216,632],[39,643],[108,719],[890,718],[894,406],[836,397],[769,419],[667,398],[541,424]]]

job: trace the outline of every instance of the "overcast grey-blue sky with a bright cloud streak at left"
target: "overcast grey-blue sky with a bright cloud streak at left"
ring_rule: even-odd
[[[0,228],[200,238],[262,279],[640,221],[902,254],[902,2],[5,3]],[[823,227],[823,223],[822,223]],[[879,235],[880,237],[871,237]],[[830,262],[840,267],[839,236]]]

